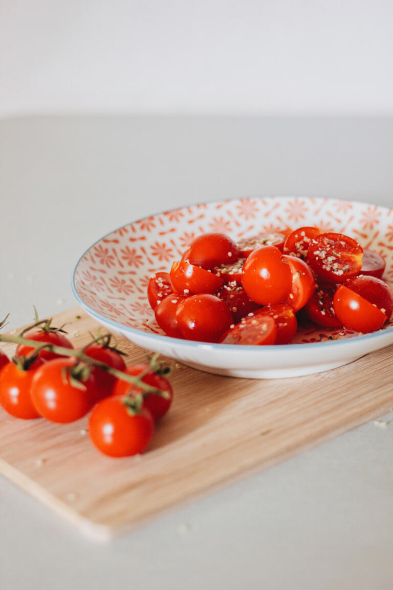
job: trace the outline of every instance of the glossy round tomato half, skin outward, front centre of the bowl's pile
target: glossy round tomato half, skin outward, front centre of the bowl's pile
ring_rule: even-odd
[[[254,250],[245,262],[243,289],[255,303],[269,305],[288,299],[292,287],[292,270],[275,246]]]

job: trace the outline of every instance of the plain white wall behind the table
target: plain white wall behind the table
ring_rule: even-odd
[[[392,0],[0,0],[0,116],[393,114]]]

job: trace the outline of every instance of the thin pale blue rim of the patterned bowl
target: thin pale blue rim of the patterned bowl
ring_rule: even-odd
[[[88,253],[88,251],[91,250],[91,248],[94,248],[95,245],[97,245],[99,242],[101,242],[102,240],[104,240],[105,238],[107,238],[108,236],[110,236],[111,234],[113,234],[116,231],[121,230],[122,228],[126,227],[127,225],[131,225],[134,223],[137,223],[139,221],[143,221],[143,219],[146,219],[148,217],[156,217],[157,215],[163,215],[164,213],[169,213],[171,211],[177,211],[178,209],[183,209],[186,207],[196,207],[197,205],[204,205],[204,204],[213,204],[213,203],[223,203],[223,202],[230,202],[230,201],[239,201],[240,199],[293,199],[293,198],[298,198],[298,199],[315,199],[318,201],[346,201],[349,203],[356,203],[356,204],[360,204],[360,205],[368,205],[369,207],[378,207],[379,209],[385,209],[386,211],[390,211],[390,209],[388,207],[385,207],[384,205],[375,205],[372,203],[369,203],[367,201],[354,201],[354,199],[339,199],[339,198],[335,198],[335,197],[328,197],[328,196],[312,196],[312,195],[260,195],[260,196],[244,196],[244,197],[234,197],[231,199],[214,199],[212,201],[199,201],[197,203],[194,204],[187,204],[187,205],[181,205],[180,207],[174,207],[172,209],[163,209],[163,211],[158,211],[156,213],[152,213],[150,215],[145,215],[144,217],[141,217],[139,219],[134,219],[133,221],[127,222],[126,224],[120,225],[119,227],[117,227],[115,230],[111,230],[109,231],[107,234],[103,235],[101,238],[98,238],[98,240],[96,240],[95,242],[93,242],[93,244],[91,244],[88,248],[86,248],[86,250],[84,251],[84,253],[82,253],[80,255],[80,257],[78,258],[77,263],[75,264],[74,270],[72,271],[72,277],[71,277],[71,289],[72,289],[72,293],[74,294],[75,299],[77,300],[77,302],[80,304],[80,306],[87,311],[91,316],[94,316],[96,319],[100,320],[101,323],[105,323],[105,324],[110,324],[110,326],[113,326],[113,329],[117,332],[120,332],[121,330],[123,331],[127,331],[127,332],[131,332],[131,333],[136,333],[137,335],[144,335],[148,338],[153,338],[153,340],[155,340],[156,342],[167,342],[168,344],[172,344],[172,345],[185,345],[185,346],[191,346],[191,347],[196,347],[196,348],[209,348],[209,349],[217,349],[217,350],[236,350],[237,352],[241,353],[242,355],[244,355],[247,351],[252,350],[260,350],[261,346],[259,345],[241,345],[241,344],[222,344],[222,343],[216,343],[216,342],[203,342],[200,340],[186,340],[186,339],[181,339],[181,338],[173,338],[171,336],[166,336],[166,335],[161,335],[161,334],[154,334],[153,332],[144,332],[144,330],[138,330],[137,328],[133,328],[131,326],[126,326],[125,324],[119,323],[119,322],[115,322],[114,320],[111,320],[108,317],[105,317],[103,314],[96,312],[94,309],[92,309],[90,306],[88,306],[87,303],[85,303],[84,300],[82,300],[80,294],[77,292],[77,287],[75,286],[75,274],[77,273],[78,270],[78,266],[82,260],[82,258],[84,258],[84,256]],[[321,326],[321,330],[322,330],[322,326]],[[393,326],[389,326],[387,328],[385,328],[384,330],[377,330],[376,332],[370,332],[368,334],[362,334],[359,336],[354,336],[351,338],[343,338],[341,340],[322,340],[321,342],[303,342],[302,344],[281,344],[281,345],[264,345],[263,349],[267,349],[267,350],[304,350],[305,348],[310,348],[310,347],[314,347],[314,346],[318,346],[318,349],[321,349],[322,346],[338,346],[338,345],[348,345],[348,343],[350,342],[365,342],[367,340],[373,340],[376,339],[378,337],[381,337],[382,335],[388,334],[390,332],[393,331]]]

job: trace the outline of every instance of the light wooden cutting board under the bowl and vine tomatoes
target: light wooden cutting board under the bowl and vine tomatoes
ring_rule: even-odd
[[[75,347],[99,324],[60,313]],[[147,352],[121,342],[127,363]],[[6,353],[13,345],[1,343]],[[22,421],[0,408],[0,473],[97,538],[268,467],[389,411],[393,347],[351,365],[292,379],[236,379],[176,363],[173,406],[148,451],[113,459],[91,444],[87,418]]]

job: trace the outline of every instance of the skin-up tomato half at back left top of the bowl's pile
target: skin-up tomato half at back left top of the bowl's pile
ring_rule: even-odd
[[[236,244],[224,234],[203,234],[193,240],[181,260],[206,270],[237,260]]]

